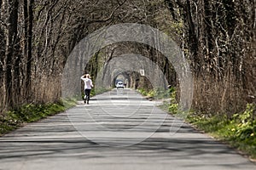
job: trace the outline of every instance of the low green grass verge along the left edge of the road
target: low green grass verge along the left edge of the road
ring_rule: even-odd
[[[53,116],[76,105],[74,99],[61,100],[44,105],[23,105],[12,111],[0,114],[0,136],[9,133],[27,122],[37,122],[45,117]]]

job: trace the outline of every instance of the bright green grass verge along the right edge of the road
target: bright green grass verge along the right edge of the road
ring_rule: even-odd
[[[162,105],[161,109],[177,114],[177,104]],[[215,139],[220,139],[230,146],[241,150],[253,160],[256,159],[256,107],[248,104],[244,112],[227,117],[225,114],[199,114],[189,112],[183,116],[186,122],[194,125],[198,130],[209,133]]]

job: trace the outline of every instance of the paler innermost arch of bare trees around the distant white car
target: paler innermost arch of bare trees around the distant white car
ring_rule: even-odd
[[[142,76],[140,71],[144,72]],[[138,80],[144,79],[153,88],[166,89],[168,82],[160,67],[140,54],[123,54],[109,60],[96,77],[96,86],[114,87],[116,80],[122,79],[129,88],[137,88]]]

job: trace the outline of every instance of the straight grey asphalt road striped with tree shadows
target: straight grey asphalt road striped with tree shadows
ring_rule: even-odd
[[[256,169],[131,89],[97,95],[0,138],[0,170]]]

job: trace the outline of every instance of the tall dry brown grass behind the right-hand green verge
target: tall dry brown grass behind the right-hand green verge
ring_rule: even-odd
[[[221,81],[214,78],[195,77],[195,94],[193,107],[195,111],[206,113],[226,113],[231,116],[243,111],[247,104],[243,83],[233,75]]]

